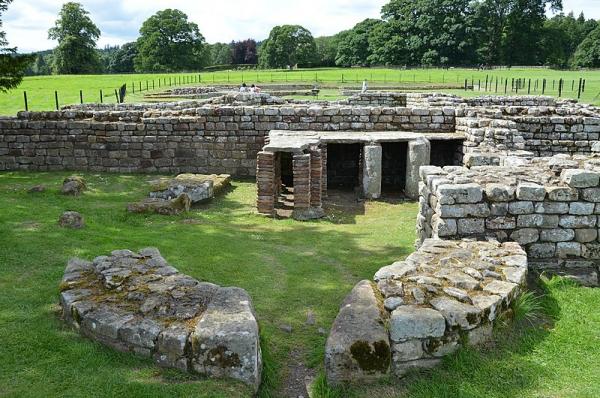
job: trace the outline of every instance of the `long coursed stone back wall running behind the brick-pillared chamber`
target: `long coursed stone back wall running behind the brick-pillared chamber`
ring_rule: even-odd
[[[96,110],[101,109],[101,110]],[[350,106],[123,105],[0,119],[1,170],[254,176],[270,130],[454,131],[454,110]]]

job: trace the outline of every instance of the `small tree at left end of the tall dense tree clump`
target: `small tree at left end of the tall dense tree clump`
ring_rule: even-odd
[[[341,66],[368,65],[372,54],[369,35],[383,22],[379,19],[365,19],[354,28],[340,35],[336,64]]]

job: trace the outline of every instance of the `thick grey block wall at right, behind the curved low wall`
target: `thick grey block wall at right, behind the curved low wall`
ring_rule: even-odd
[[[600,168],[599,159],[584,159],[421,168],[417,243],[430,237],[516,241],[533,269],[597,286]]]

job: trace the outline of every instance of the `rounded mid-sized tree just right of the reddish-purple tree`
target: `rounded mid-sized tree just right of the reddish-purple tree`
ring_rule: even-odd
[[[299,25],[276,26],[261,46],[260,65],[265,68],[311,66],[317,61],[317,45],[310,31]]]

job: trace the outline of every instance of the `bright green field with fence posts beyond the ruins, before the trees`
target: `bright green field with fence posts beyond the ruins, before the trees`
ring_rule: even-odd
[[[116,102],[114,91],[121,85],[128,85],[128,102],[139,102],[143,95],[148,92],[159,92],[170,85],[196,85],[196,84],[248,84],[268,85],[271,83],[306,83],[318,84],[322,87],[340,88],[360,86],[367,79],[372,88],[398,87],[407,90],[414,87],[443,85],[448,88],[436,89],[455,93],[458,95],[485,94],[486,77],[491,82],[488,93],[495,93],[496,79],[509,79],[508,91],[512,79],[532,80],[532,94],[541,94],[541,80],[547,80],[547,95],[558,95],[558,81],[564,79],[565,86],[562,94],[565,98],[576,98],[578,81],[586,79],[585,92],[581,101],[600,104],[600,71],[557,71],[551,69],[502,69],[491,71],[477,71],[473,69],[366,69],[366,68],[328,68],[328,69],[304,69],[294,71],[284,70],[259,70],[259,71],[231,71],[194,74],[133,74],[133,75],[95,75],[95,76],[38,76],[27,77],[17,89],[7,93],[0,93],[0,115],[14,115],[24,110],[23,93],[27,92],[29,109],[34,111],[52,110],[55,108],[55,91],[58,92],[59,106],[79,103],[81,101],[80,91],[84,102],[99,102],[100,90],[103,91],[103,100],[107,103]],[[469,85],[474,83],[481,90],[465,92],[462,89],[452,87],[463,87],[465,79]],[[535,80],[538,80],[539,88],[535,88]],[[170,82],[170,83],[169,83]],[[181,82],[181,84],[180,84]],[[140,83],[142,92],[140,93]],[[135,85],[135,93],[132,86]],[[160,85],[160,88],[159,88]],[[500,83],[498,92],[504,93],[504,87]],[[148,87],[148,90],[146,90]],[[154,87],[154,88],[153,88]],[[519,94],[527,93],[527,83]],[[514,94],[514,93],[513,93]],[[327,95],[327,99],[336,96]]]

